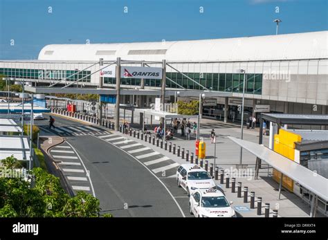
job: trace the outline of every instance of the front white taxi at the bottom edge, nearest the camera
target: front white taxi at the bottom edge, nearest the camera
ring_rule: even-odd
[[[189,212],[196,217],[236,217],[231,204],[220,190],[197,190],[190,196]]]

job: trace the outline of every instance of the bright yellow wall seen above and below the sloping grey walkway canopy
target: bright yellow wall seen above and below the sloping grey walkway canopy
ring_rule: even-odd
[[[301,142],[302,137],[298,134],[291,133],[280,129],[279,134],[275,134],[274,151],[290,160],[295,159],[295,142]],[[280,183],[280,172],[273,169],[273,179]],[[282,186],[293,192],[293,180],[288,176],[282,177]]]

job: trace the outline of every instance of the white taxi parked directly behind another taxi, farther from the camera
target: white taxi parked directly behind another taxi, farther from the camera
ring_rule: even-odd
[[[216,187],[212,177],[205,169],[196,164],[182,164],[176,170],[176,183],[190,196],[195,190],[208,190]]]

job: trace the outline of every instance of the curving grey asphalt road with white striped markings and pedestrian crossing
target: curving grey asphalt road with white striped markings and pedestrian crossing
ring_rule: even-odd
[[[161,178],[161,173],[154,174],[135,156],[100,138],[108,131],[57,116],[57,129],[49,131],[48,116],[45,116],[45,120],[35,121],[42,129],[41,135],[58,134],[65,139],[62,145],[51,149],[51,155],[55,155],[57,163],[63,161],[60,167],[68,171],[64,176],[71,186],[75,186],[75,191],[80,189],[95,194],[100,200],[102,214],[189,215],[188,198],[176,186],[175,178]],[[67,131],[61,132],[62,129]]]

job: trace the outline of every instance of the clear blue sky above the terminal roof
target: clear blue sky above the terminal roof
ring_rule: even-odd
[[[273,35],[277,18],[280,34],[328,30],[327,2],[0,0],[0,59],[35,59],[47,44],[87,39],[93,44]]]

